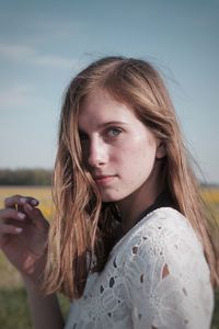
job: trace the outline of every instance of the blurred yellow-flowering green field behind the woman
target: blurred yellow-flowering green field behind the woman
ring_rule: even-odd
[[[53,201],[49,188],[5,188],[0,186],[0,208],[4,197],[12,194],[32,195],[39,201],[39,208],[46,218],[53,214]],[[219,189],[203,189],[201,195],[219,224]],[[27,299],[20,274],[0,254],[0,328],[2,329],[30,329],[31,318]],[[216,293],[216,307],[211,329],[219,329],[219,293]],[[68,300],[59,295],[64,314],[67,314]]]

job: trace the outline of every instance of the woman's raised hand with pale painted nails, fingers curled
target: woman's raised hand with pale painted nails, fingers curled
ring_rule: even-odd
[[[0,248],[21,274],[38,283],[44,272],[48,222],[36,208],[38,201],[13,195],[0,209]]]

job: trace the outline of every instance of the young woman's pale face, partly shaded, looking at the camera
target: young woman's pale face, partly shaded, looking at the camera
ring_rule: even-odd
[[[163,154],[131,109],[97,90],[80,107],[79,131],[83,159],[103,202],[155,192],[154,162]]]

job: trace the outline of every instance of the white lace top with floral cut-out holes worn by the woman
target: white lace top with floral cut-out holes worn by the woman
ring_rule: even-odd
[[[104,270],[89,276],[66,329],[207,329],[212,308],[201,245],[184,216],[162,207],[132,227]]]

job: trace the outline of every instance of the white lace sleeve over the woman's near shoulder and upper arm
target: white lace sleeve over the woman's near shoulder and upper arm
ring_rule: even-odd
[[[171,208],[155,211],[130,247],[126,282],[132,327],[210,328],[209,269],[187,219]]]

